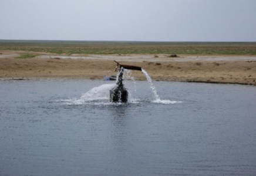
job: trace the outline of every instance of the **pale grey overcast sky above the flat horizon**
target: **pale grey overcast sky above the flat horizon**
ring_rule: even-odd
[[[256,0],[0,0],[0,39],[256,42]]]

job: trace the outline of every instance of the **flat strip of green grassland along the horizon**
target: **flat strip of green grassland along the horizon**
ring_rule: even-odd
[[[256,42],[86,42],[0,40],[0,50],[71,54],[256,55]]]

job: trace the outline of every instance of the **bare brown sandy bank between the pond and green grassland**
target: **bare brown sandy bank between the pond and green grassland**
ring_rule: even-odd
[[[20,55],[37,55],[19,59]],[[141,66],[153,80],[256,85],[256,56],[56,55],[0,50],[0,79],[103,79],[116,75],[117,60]],[[145,77],[133,71],[137,80]]]

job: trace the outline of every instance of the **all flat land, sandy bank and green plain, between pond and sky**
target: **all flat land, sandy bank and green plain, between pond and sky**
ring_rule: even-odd
[[[255,43],[0,42],[0,49],[0,79],[103,79],[117,74],[117,60],[153,80],[256,85]]]

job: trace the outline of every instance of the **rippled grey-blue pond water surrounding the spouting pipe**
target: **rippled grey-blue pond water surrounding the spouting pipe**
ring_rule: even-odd
[[[256,175],[255,86],[113,83],[1,81],[0,175]]]

